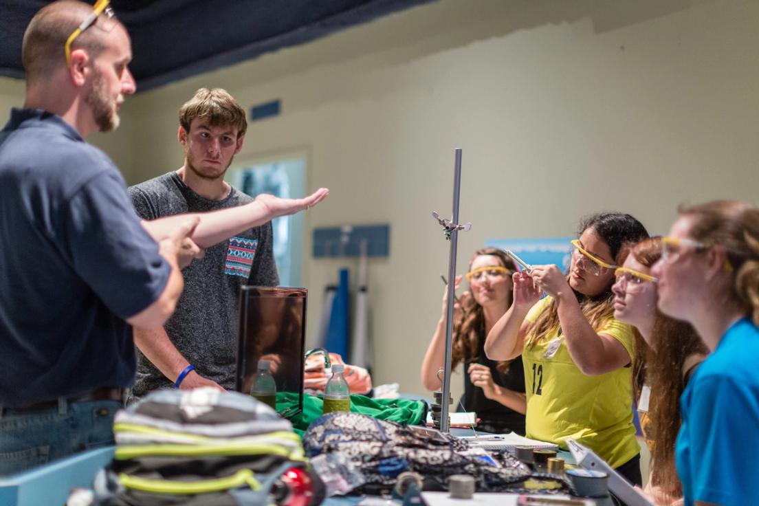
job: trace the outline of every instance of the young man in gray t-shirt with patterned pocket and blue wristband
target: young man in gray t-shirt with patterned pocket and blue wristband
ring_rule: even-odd
[[[268,195],[254,201],[224,181],[227,168],[242,148],[247,128],[244,109],[225,90],[197,90],[180,108],[179,124],[184,165],[129,188],[141,218],[153,220],[253,202],[279,206],[289,201]],[[325,192],[319,190],[307,197],[315,200],[310,205],[326,196]],[[202,259],[182,270],[184,293],[165,328],[135,329],[134,341],[141,352],[135,396],[177,384],[183,389],[207,385],[234,388],[239,289],[249,279],[250,284],[276,286],[279,277],[272,253],[271,222],[219,240],[206,248]]]

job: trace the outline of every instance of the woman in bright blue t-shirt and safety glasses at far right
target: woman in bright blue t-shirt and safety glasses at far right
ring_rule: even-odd
[[[658,307],[711,351],[680,398],[685,504],[759,504],[759,208],[715,201],[679,212],[653,266]]]

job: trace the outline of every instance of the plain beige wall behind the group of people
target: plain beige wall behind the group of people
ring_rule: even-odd
[[[488,237],[571,234],[600,209],[660,232],[683,200],[757,202],[757,24],[754,0],[442,0],[140,93],[93,140],[135,183],[181,165],[176,111],[197,87],[281,99],[239,158],[305,149],[309,187],[332,191],[306,217],[310,333],[323,286],[355,266],[311,259],[313,227],[389,222],[391,255],[370,265],[374,380],[421,393],[448,261],[430,212],[450,215],[453,149],[474,224],[460,270]]]

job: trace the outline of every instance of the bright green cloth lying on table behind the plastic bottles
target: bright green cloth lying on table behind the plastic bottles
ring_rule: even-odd
[[[297,405],[297,393],[277,393],[277,411],[279,413]],[[301,438],[310,423],[322,416],[322,407],[321,397],[303,394],[303,412],[289,417],[294,431]],[[372,399],[366,395],[351,394],[351,412],[369,415],[378,420],[418,425],[426,422],[427,403],[408,399]]]

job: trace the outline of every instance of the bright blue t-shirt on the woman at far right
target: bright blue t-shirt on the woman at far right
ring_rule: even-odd
[[[685,504],[759,504],[759,328],[735,322],[680,398],[677,472]]]

